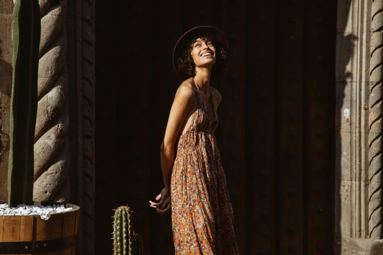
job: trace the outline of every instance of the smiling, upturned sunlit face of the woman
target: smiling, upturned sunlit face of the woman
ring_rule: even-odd
[[[198,38],[193,44],[191,56],[197,67],[212,68],[217,60],[213,43],[210,41],[205,42],[201,38]]]

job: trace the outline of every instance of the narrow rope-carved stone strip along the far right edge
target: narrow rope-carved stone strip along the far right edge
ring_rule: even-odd
[[[371,239],[382,238],[382,114],[383,114],[383,0],[372,3],[370,59],[369,203],[368,229]]]

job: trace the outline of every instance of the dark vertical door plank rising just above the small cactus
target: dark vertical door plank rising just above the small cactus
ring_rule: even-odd
[[[151,3],[139,1],[132,8],[121,1],[118,49],[118,206],[128,205],[133,213],[135,233],[141,235],[149,255],[150,230],[150,60],[152,58]],[[129,15],[126,11],[129,10]],[[129,32],[127,32],[129,31]],[[159,153],[159,145],[157,146]],[[156,168],[158,170],[159,168]],[[157,190],[159,192],[160,190]]]

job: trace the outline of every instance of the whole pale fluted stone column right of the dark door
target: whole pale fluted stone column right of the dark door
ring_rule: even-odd
[[[382,241],[383,0],[338,0],[335,254]]]

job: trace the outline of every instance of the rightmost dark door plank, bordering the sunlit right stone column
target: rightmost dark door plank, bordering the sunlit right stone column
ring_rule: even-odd
[[[332,107],[335,22],[331,1],[309,1],[307,11],[307,237],[309,255],[332,253]],[[332,45],[332,47],[330,46]]]

